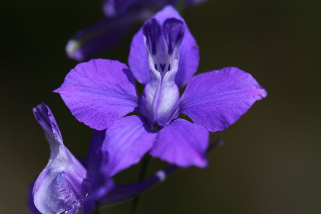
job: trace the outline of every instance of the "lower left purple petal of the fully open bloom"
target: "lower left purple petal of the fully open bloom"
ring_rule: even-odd
[[[102,150],[109,154],[105,167],[111,177],[140,161],[150,150],[156,134],[143,116],[127,116],[115,121],[106,131]]]

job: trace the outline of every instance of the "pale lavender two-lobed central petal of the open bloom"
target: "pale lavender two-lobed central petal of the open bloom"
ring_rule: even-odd
[[[139,109],[151,125],[157,122],[163,126],[178,116],[179,91],[174,79],[184,24],[174,18],[168,19],[162,29],[155,19],[146,21],[143,26],[151,81],[144,88]]]

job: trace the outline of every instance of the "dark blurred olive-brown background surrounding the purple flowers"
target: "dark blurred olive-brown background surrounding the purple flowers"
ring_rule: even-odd
[[[200,47],[198,72],[237,66],[268,91],[221,133],[206,169],[180,171],[143,197],[141,213],[321,213],[320,4],[217,0],[183,14]],[[49,147],[32,114],[44,101],[65,145],[85,155],[91,129],[65,107],[58,88],[77,63],[66,41],[102,19],[100,1],[1,1],[0,213],[28,213],[29,183]],[[134,33],[134,32],[132,32]],[[103,58],[127,63],[131,36]],[[165,164],[152,163],[150,174]],[[116,176],[133,182],[134,166]],[[102,213],[129,213],[131,202]]]

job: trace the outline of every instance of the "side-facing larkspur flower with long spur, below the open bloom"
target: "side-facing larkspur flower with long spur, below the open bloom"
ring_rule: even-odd
[[[96,206],[116,203],[135,196],[162,181],[172,173],[173,166],[136,184],[117,186],[108,172],[108,153],[100,149],[105,133],[94,131],[86,168],[65,147],[56,120],[48,106],[39,104],[34,115],[50,145],[47,166],[29,191],[28,207],[33,213],[90,214]]]

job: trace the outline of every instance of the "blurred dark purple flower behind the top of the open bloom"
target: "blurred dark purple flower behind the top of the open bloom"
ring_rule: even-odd
[[[139,27],[154,12],[167,4],[178,7],[197,4],[204,0],[104,0],[103,12],[106,16],[92,26],[78,31],[66,45],[67,56],[83,61],[108,50],[119,43],[126,33]],[[181,3],[181,4],[182,4]]]

